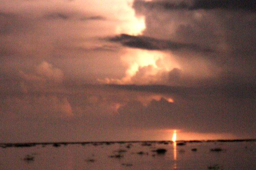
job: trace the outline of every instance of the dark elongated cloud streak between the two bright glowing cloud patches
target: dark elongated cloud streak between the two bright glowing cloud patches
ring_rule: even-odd
[[[195,44],[186,44],[173,42],[170,40],[161,40],[150,38],[147,36],[133,36],[121,34],[113,38],[109,38],[113,42],[121,42],[122,45],[147,50],[180,50],[188,49],[194,51],[212,52],[211,49],[201,48]]]

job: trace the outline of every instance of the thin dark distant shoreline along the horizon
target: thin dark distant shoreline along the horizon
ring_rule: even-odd
[[[188,142],[188,143],[196,143],[196,142],[252,142],[256,141],[256,139],[233,139],[233,140],[181,140],[176,141],[179,142]],[[36,145],[74,145],[74,144],[94,144],[94,145],[110,145],[114,143],[140,143],[140,142],[146,142],[146,143],[173,143],[172,141],[90,141],[90,142],[19,142],[19,143],[0,143],[0,147],[6,148],[6,147],[32,147]]]

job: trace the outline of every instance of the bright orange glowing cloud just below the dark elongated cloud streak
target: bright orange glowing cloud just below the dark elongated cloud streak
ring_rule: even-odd
[[[166,73],[180,65],[170,52],[149,51],[142,49],[126,49],[121,56],[123,64],[127,66],[125,76],[121,79],[101,80],[103,83],[117,84],[158,84],[166,79]]]

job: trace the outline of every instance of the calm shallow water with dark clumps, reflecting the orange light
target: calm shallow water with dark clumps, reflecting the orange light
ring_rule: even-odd
[[[254,170],[256,141],[0,147],[1,170]],[[127,147],[129,145],[129,147]],[[154,152],[158,148],[166,153]],[[197,151],[191,149],[196,148]],[[221,151],[211,151],[220,148]],[[141,154],[138,154],[138,153]],[[119,155],[119,156],[117,156]]]

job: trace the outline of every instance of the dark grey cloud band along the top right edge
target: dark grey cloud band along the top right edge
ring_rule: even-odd
[[[133,7],[136,10],[142,11],[143,8],[153,10],[154,8],[161,8],[162,10],[210,10],[210,9],[224,9],[224,10],[247,10],[255,12],[256,2],[254,0],[194,0],[194,1],[144,1],[135,0]]]

